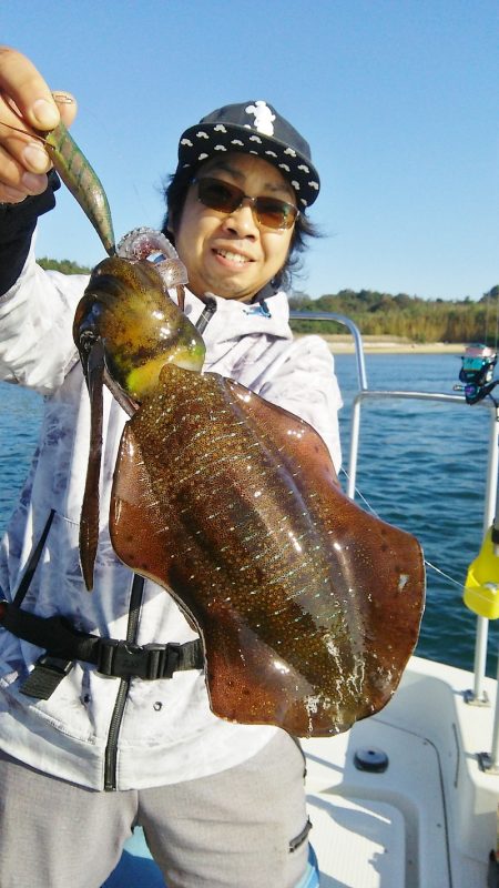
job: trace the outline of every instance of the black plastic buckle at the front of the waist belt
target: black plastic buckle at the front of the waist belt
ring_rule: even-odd
[[[114,678],[145,680],[171,678],[179,667],[181,645],[135,645],[116,638],[101,638],[98,646],[98,672]]]

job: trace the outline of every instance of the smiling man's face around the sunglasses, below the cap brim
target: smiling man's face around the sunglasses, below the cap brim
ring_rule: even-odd
[[[227,153],[203,164],[198,178],[210,175],[242,189],[247,196],[273,196],[295,204],[296,195],[279,171],[253,154]],[[175,235],[175,249],[187,269],[189,289],[251,302],[286,262],[293,226],[261,228],[252,205],[232,213],[211,210],[191,185]]]

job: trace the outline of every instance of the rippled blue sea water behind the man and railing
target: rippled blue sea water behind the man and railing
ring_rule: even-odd
[[[336,356],[345,406],[340,413],[347,470],[350,407],[358,390],[354,355]],[[368,354],[368,387],[452,393],[460,359],[452,354]],[[498,386],[499,396],[499,386]],[[0,531],[35,448],[42,398],[0,383]],[[490,411],[420,401],[365,403],[361,410],[357,502],[420,541],[427,562],[427,604],[417,653],[472,668],[476,617],[462,604],[469,563],[480,548]],[[346,487],[345,475],[342,477]],[[488,673],[496,672],[498,620],[490,624]]]

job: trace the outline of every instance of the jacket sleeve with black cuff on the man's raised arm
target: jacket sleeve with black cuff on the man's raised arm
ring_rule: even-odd
[[[44,272],[34,261],[37,219],[53,204],[49,188],[0,209],[0,380],[41,394],[55,391],[78,360],[72,321],[88,281]]]

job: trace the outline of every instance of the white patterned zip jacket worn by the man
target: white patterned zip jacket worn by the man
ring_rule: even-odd
[[[106,528],[110,488],[125,414],[104,393],[101,535],[95,586],[84,588],[79,565],[79,521],[89,447],[89,397],[72,341],[75,305],[86,276],[44,272],[31,253],[14,286],[0,299],[0,379],[45,398],[39,447],[3,537],[0,587],[13,597],[30,551],[50,509],[55,516],[23,608],[60,614],[86,633],[125,638],[133,575],[114,556]],[[257,305],[216,300],[203,339],[205,369],[232,376],[268,401],[307,420],[339,468],[340,395],[333,359],[317,336],[293,341],[285,293]],[[195,323],[204,304],[186,294]],[[195,638],[173,599],[146,582],[136,643]],[[272,726],[235,725],[208,708],[201,670],[171,679],[133,678],[118,699],[119,678],[79,662],[48,700],[20,694],[43,652],[0,629],[0,747],[58,777],[95,789],[131,789],[193,779],[255,755]]]

